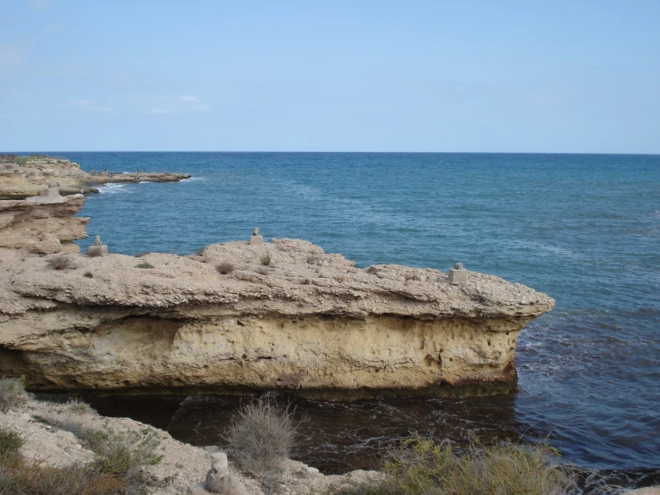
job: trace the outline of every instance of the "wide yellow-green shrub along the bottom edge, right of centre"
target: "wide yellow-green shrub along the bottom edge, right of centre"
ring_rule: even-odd
[[[559,466],[557,458],[547,442],[484,446],[474,440],[461,453],[449,444],[414,435],[390,452],[383,471],[389,475],[391,493],[397,495],[564,495],[575,489],[576,476],[571,468]]]

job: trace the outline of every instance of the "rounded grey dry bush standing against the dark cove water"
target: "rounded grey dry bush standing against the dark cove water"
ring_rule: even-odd
[[[280,466],[293,448],[300,422],[290,405],[267,393],[233,415],[224,438],[243,471],[264,474]]]

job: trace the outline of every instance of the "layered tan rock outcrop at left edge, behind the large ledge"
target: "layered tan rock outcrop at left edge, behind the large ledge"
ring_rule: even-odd
[[[42,254],[79,252],[79,247],[71,241],[87,237],[85,228],[89,219],[73,215],[84,202],[82,195],[0,201],[0,248],[28,249]]]

